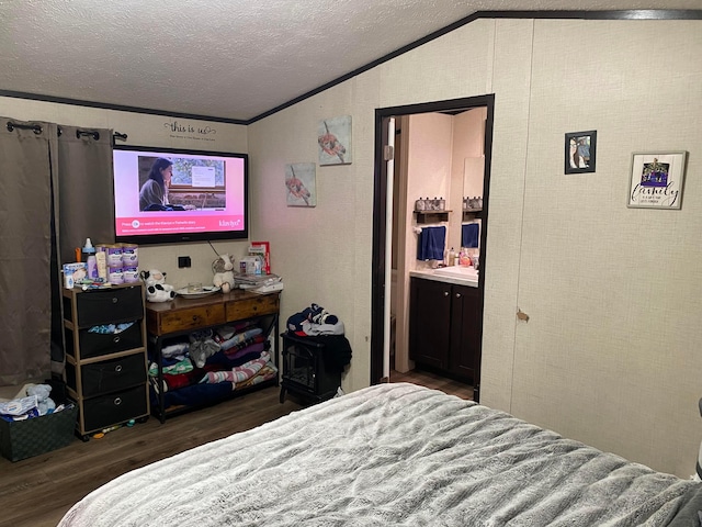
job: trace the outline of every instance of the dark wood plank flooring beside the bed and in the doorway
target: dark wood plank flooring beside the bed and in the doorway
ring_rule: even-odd
[[[467,384],[423,372],[390,374],[390,382],[414,382],[472,399]],[[172,417],[161,425],[151,417],[101,439],[75,438],[61,449],[11,462],[0,458],[0,526],[55,527],[73,503],[132,469],[189,448],[247,430],[302,408],[279,389],[268,388]]]

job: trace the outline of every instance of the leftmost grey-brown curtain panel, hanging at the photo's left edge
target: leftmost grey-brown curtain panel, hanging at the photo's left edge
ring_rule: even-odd
[[[55,124],[0,120],[0,384],[4,385],[50,372],[56,137]]]

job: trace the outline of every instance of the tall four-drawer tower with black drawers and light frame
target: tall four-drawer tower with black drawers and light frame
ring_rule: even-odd
[[[65,380],[77,434],[149,415],[144,284],[64,290]]]

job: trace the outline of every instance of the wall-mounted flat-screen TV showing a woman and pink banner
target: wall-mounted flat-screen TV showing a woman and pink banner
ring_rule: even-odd
[[[248,238],[248,161],[247,154],[115,145],[115,239]]]

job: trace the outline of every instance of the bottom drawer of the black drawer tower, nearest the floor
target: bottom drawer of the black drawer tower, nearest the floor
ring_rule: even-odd
[[[82,410],[86,433],[148,415],[146,385],[141,384],[110,395],[87,399],[82,404]]]

